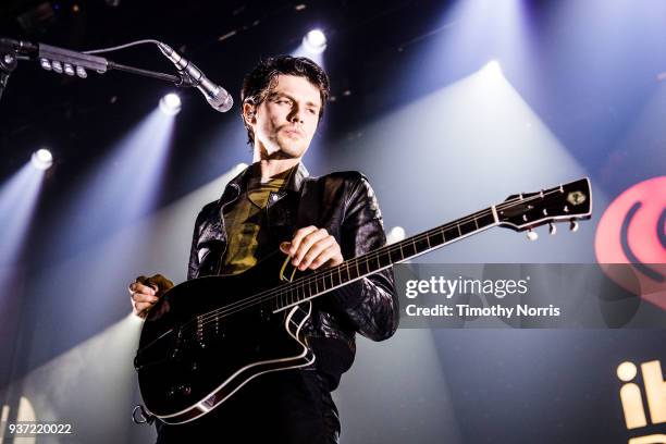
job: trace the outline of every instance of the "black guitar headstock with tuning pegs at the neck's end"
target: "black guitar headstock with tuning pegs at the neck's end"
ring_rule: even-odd
[[[571,222],[571,230],[576,231],[576,221],[592,215],[590,180],[583,177],[536,193],[513,195],[495,209],[499,224],[511,230],[530,230],[532,234],[531,229],[551,223],[554,233],[554,222]]]

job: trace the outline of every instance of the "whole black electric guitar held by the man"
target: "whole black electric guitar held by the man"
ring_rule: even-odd
[[[504,202],[386,245],[340,266],[300,272],[275,251],[248,271],[208,276],[168,291],[150,309],[134,360],[145,418],[193,421],[252,378],[314,361],[301,330],[311,299],[493,226],[515,231],[592,214],[590,181],[581,178]],[[136,409],[135,409],[136,412]]]

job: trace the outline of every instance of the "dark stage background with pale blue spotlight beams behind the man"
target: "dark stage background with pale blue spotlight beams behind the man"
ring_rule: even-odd
[[[140,322],[126,285],[156,272],[185,279],[198,209],[251,159],[237,103],[244,73],[300,51],[317,27],[334,101],[305,163],[312,174],[365,172],[393,235],[592,181],[594,215],[576,234],[540,229],[531,243],[491,230],[419,262],[627,261],[613,226],[633,202],[634,260],[666,262],[666,2],[3,0],[0,36],[73,50],[156,38],[236,104],[220,114],[180,90],[183,109],[166,118],[158,101],[169,84],[20,63],[0,100],[2,419],[73,425],[37,442],[153,440],[130,419]],[[173,72],[150,45],[106,57]],[[37,173],[29,159],[42,147],[54,163]],[[359,338],[334,393],[341,442],[666,443],[666,388],[648,390],[641,373],[641,363],[666,365],[665,338],[649,329]],[[629,427],[620,402],[626,361],[639,370],[628,380],[644,425]]]

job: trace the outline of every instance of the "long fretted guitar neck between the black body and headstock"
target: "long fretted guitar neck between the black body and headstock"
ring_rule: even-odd
[[[348,259],[340,266],[318,270],[276,288],[274,311],[285,310],[369,274],[407,261],[455,240],[497,225],[495,207],[490,207],[435,229]]]

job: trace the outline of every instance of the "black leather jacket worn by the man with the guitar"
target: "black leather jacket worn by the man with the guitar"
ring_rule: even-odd
[[[238,198],[250,169],[234,177],[219,200],[208,203],[195,224],[187,279],[220,272],[226,250],[222,211]],[[349,259],[386,242],[374,193],[359,172],[308,177],[303,164],[280,193],[271,193],[264,223],[271,248],[291,240],[296,229],[325,229]],[[326,373],[331,388],[354,361],[355,332],[373,341],[388,338],[398,324],[398,300],[393,271],[378,272],[329,295],[313,299],[311,322],[305,333],[317,356],[317,368]]]

